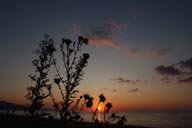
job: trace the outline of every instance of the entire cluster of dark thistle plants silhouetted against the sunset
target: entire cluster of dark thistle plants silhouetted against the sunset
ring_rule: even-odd
[[[88,42],[89,40],[82,36],[78,37],[77,42],[63,38],[60,44],[63,68],[59,70],[58,65],[61,64],[54,56],[56,51],[54,41],[48,35],[44,35],[44,40],[40,42],[39,47],[34,52],[37,58],[32,61],[36,74],[29,75],[35,85],[27,88],[28,93],[25,96],[31,101],[28,112],[32,117],[41,117],[46,114],[40,110],[45,105],[44,100],[47,97],[51,98],[53,107],[56,112],[59,112],[65,127],[73,126],[71,123],[73,121],[82,120],[80,112],[93,106],[94,98],[89,94],[78,96],[79,91],[77,90],[90,57],[88,53],[81,53],[82,47],[87,45]],[[51,66],[56,72],[52,80],[48,77]],[[53,87],[59,91],[61,97],[59,101],[54,97]],[[110,122],[114,120],[118,120],[118,124],[124,124],[125,117],[116,116],[115,113],[110,114],[112,103],[107,102],[105,104],[105,102],[105,96],[103,94],[99,95],[96,109],[92,111],[92,121],[95,126],[100,127],[100,124],[103,124],[104,127],[108,127]],[[103,122],[97,119],[98,107],[101,103],[105,104]],[[49,117],[53,119],[52,116]]]

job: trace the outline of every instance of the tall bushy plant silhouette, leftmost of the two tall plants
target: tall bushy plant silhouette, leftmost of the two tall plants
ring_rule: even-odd
[[[48,72],[50,66],[53,64],[53,53],[55,47],[53,40],[48,35],[44,35],[44,40],[39,44],[39,47],[34,51],[37,58],[32,61],[35,67],[35,75],[29,75],[31,80],[35,83],[33,86],[27,88],[27,100],[31,103],[29,105],[28,112],[32,117],[40,117],[43,114],[40,113],[40,109],[43,107],[43,100],[50,96],[47,92],[51,90],[51,84],[48,79]]]

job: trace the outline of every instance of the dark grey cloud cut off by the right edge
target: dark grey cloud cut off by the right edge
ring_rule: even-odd
[[[160,65],[155,71],[164,77],[162,81],[166,83],[192,83],[192,58],[169,66]]]

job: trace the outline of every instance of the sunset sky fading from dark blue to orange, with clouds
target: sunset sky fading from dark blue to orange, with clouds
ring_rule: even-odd
[[[1,0],[0,100],[27,104],[32,51],[49,34],[89,38],[78,87],[114,110],[192,110],[190,0]],[[60,59],[58,57],[58,59]],[[48,101],[47,101],[48,102]]]

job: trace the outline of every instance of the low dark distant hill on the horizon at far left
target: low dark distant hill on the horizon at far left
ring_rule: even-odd
[[[7,101],[0,101],[0,110],[24,110],[25,106],[10,103]]]

